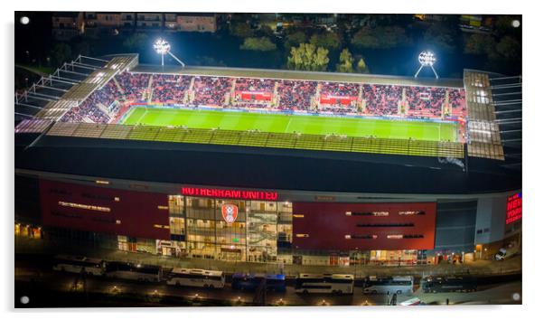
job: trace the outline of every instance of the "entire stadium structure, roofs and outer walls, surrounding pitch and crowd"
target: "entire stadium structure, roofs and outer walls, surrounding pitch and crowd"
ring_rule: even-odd
[[[466,141],[414,154],[409,139],[379,149],[370,147],[378,140],[351,138],[346,148],[324,137],[319,146],[272,146],[270,136],[222,144],[217,132],[191,140],[186,128],[118,125],[116,117],[63,121],[120,72],[166,72],[138,65],[136,55],[80,57],[63,68],[16,96],[24,118],[15,127],[18,232],[22,223],[24,232],[39,226],[44,238],[80,245],[303,265],[435,263],[521,248],[521,79],[482,71],[465,71],[464,80],[168,71],[464,90]],[[511,99],[517,90],[520,99]]]

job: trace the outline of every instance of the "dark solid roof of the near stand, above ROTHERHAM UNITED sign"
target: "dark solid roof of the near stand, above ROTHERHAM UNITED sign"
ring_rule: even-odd
[[[331,193],[480,194],[521,188],[501,161],[15,135],[15,167],[142,182]]]

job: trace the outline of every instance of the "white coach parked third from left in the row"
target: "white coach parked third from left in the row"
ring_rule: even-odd
[[[225,287],[225,275],[222,271],[174,268],[168,275],[166,283],[186,287]]]

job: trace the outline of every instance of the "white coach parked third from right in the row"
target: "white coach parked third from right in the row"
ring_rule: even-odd
[[[296,277],[296,293],[333,293],[353,294],[353,275],[324,274],[312,275],[301,273]]]

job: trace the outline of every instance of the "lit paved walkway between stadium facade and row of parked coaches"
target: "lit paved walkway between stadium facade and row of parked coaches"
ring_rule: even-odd
[[[179,259],[142,252],[127,252],[116,249],[100,249],[83,246],[68,246],[66,243],[51,240],[34,240],[26,237],[15,237],[15,253],[65,253],[79,254],[107,260],[137,261],[143,264],[161,265],[166,268],[206,268],[218,269],[227,273],[232,272],[267,272],[283,273],[286,276],[295,276],[298,273],[351,273],[356,278],[366,276],[393,276],[393,275],[491,275],[521,272],[521,256],[505,261],[478,260],[464,264],[441,263],[439,265],[389,267],[389,266],[300,266],[285,265],[283,269],[278,264],[234,262],[211,259]]]

